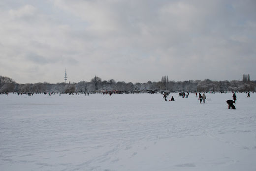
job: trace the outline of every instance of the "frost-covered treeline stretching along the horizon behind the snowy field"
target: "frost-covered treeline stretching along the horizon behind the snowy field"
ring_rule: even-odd
[[[0,76],[0,92],[105,92],[105,91],[123,91],[123,92],[141,92],[141,91],[255,91],[256,81],[211,81],[209,79],[189,80],[183,82],[169,81],[168,77],[162,77],[159,82],[147,83],[126,83],[116,82],[115,80],[101,81],[99,77],[94,77],[90,82],[79,83],[35,83],[18,84],[11,78]]]

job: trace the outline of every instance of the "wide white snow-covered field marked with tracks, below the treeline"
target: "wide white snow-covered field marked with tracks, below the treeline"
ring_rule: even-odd
[[[256,93],[236,95],[0,95],[0,171],[256,171]]]

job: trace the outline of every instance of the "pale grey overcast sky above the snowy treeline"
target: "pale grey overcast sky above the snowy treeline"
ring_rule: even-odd
[[[256,0],[0,0],[17,83],[256,80]]]

